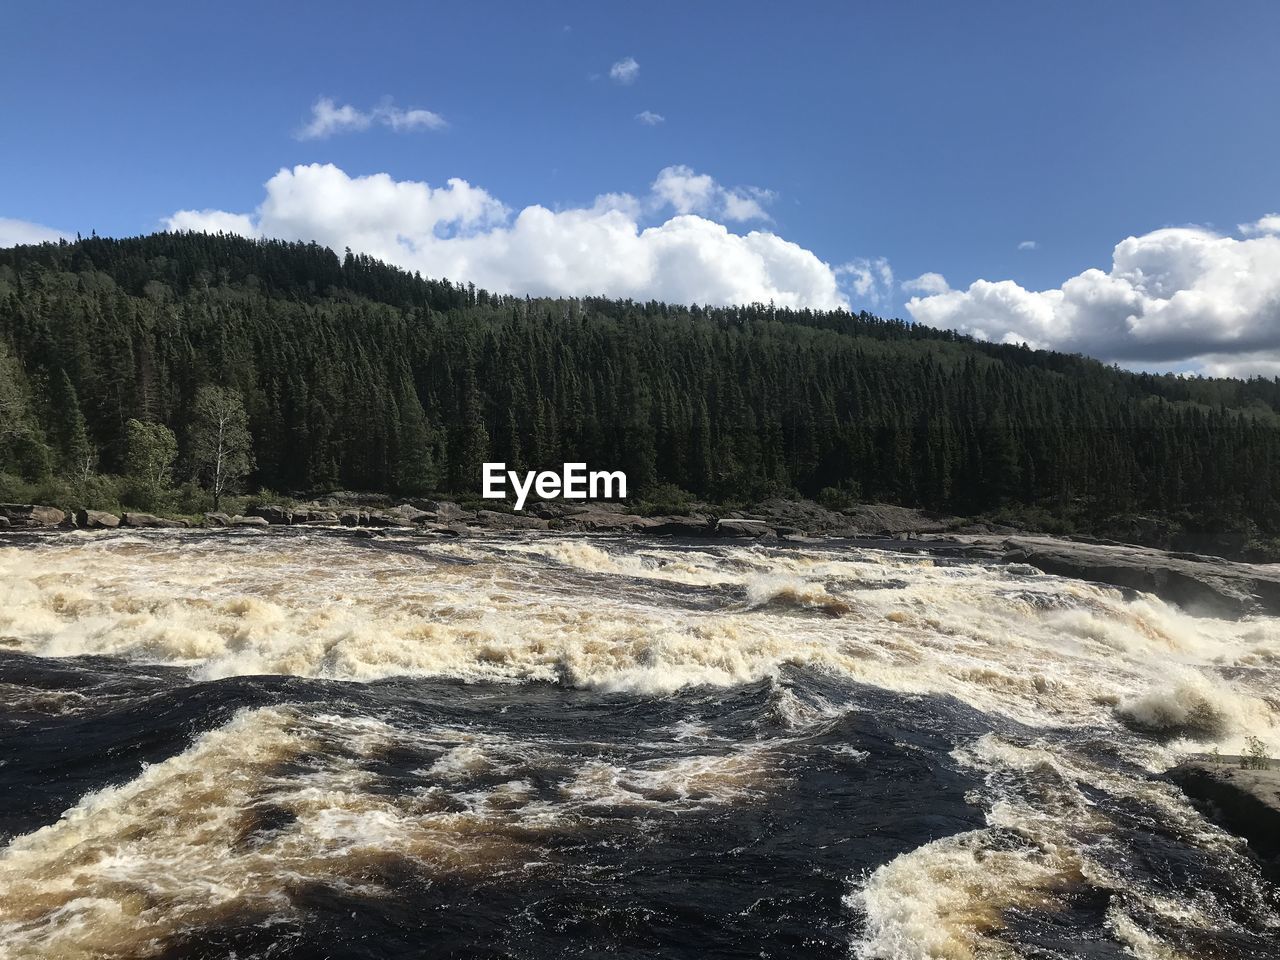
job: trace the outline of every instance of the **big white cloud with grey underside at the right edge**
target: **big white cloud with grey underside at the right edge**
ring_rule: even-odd
[[[1266,370],[1280,358],[1280,236],[1248,227],[1244,239],[1194,227],[1153,230],[1117,243],[1110,270],[1085,270],[1056,289],[975,280],[913,297],[906,308],[920,323],[983,339]]]

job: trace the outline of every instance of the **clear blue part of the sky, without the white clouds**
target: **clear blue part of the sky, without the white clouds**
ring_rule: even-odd
[[[179,210],[252,215],[276,172],[307,164],[436,188],[461,178],[508,218],[626,193],[640,229],[695,214],[776,234],[833,271],[852,265],[835,275],[854,308],[1125,362],[1215,369],[1247,356],[1267,370],[1275,344],[1253,328],[1275,328],[1271,314],[1248,335],[1235,316],[1216,339],[1172,349],[1166,328],[1189,321],[1165,316],[1158,337],[1117,346],[1055,302],[993,305],[970,284],[1053,291],[1088,268],[1112,271],[1126,237],[1185,225],[1233,237],[1249,269],[1268,264],[1268,248],[1243,250],[1238,224],[1280,209],[1277,44],[1280,4],[1248,0],[14,4],[0,35],[0,218],[134,234]],[[628,58],[637,69],[611,77]],[[364,128],[300,138],[320,97]],[[388,118],[411,109],[444,125],[393,129]],[[652,184],[668,168],[713,178],[723,202],[662,205]],[[730,196],[765,216],[731,220]],[[334,242],[311,220],[288,223]],[[486,256],[422,265],[474,266],[498,285],[498,255]],[[901,283],[924,273],[968,300],[909,314]],[[1267,291],[1249,297],[1267,308]]]

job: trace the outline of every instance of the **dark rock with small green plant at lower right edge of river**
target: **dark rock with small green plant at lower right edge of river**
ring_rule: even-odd
[[[1210,819],[1249,841],[1253,851],[1280,870],[1280,769],[1243,769],[1238,758],[1221,763],[1184,760],[1169,771]]]

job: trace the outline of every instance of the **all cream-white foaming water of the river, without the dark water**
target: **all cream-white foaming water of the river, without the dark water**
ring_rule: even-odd
[[[1275,620],[1194,618],[1156,598],[1126,600],[1024,567],[940,566],[874,550],[691,550],[581,538],[416,544],[406,540],[406,552],[394,553],[323,536],[74,534],[0,549],[0,644],[44,657],[186,666],[198,678],[412,675],[660,695],[799,664],[896,692],[951,695],[1043,730],[1046,740],[987,735],[957,750],[957,762],[987,785],[974,801],[988,826],[858,878],[849,905],[865,919],[860,956],[1002,956],[1004,911],[1050,902],[1082,879],[1124,890],[1144,910],[1224,923],[1212,902],[1165,904],[1158,891],[1115,876],[1094,849],[1115,827],[1085,787],[1133,796],[1207,850],[1235,841],[1161,781],[1112,773],[1052,737],[1098,731],[1151,772],[1185,751],[1236,751],[1251,735],[1280,751]],[[797,727],[823,719],[810,708],[783,708],[794,709]],[[92,945],[136,938],[138,929],[160,936],[166,924],[192,920],[183,910],[207,922],[244,905],[269,909],[276,888],[261,879],[268,863],[330,882],[348,882],[361,858],[392,850],[440,869],[516,869],[532,856],[521,846],[527,831],[564,815],[525,799],[531,744],[454,737],[428,771],[434,782],[467,795],[476,772],[511,774],[497,799],[472,797],[470,814],[440,815],[422,797],[364,794],[358,764],[339,759],[308,782],[276,785],[292,797],[296,826],[269,846],[251,854],[219,847],[228,823],[252,808],[253,781],[269,778],[310,737],[339,737],[342,724],[332,724],[301,728],[276,709],[241,714],[187,753],[15,840],[0,858],[9,891],[0,893],[0,942],[8,937],[31,955],[58,945],[63,955],[91,956]],[[347,754],[356,749],[352,736],[342,728]],[[589,762],[561,792],[570,806],[692,809],[750,803],[781,776],[768,748],[753,746],[632,769]],[[147,831],[159,805],[192,813],[177,829]],[[78,882],[108,892],[70,897]],[[166,882],[186,886],[148,888],[137,904],[159,897],[178,904],[177,914],[137,906],[140,884]],[[1108,925],[1137,956],[1181,956],[1123,906]]]

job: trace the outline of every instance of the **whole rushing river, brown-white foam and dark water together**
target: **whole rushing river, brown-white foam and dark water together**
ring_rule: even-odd
[[[1275,957],[1280,622],[635,539],[0,545],[5,957]]]

